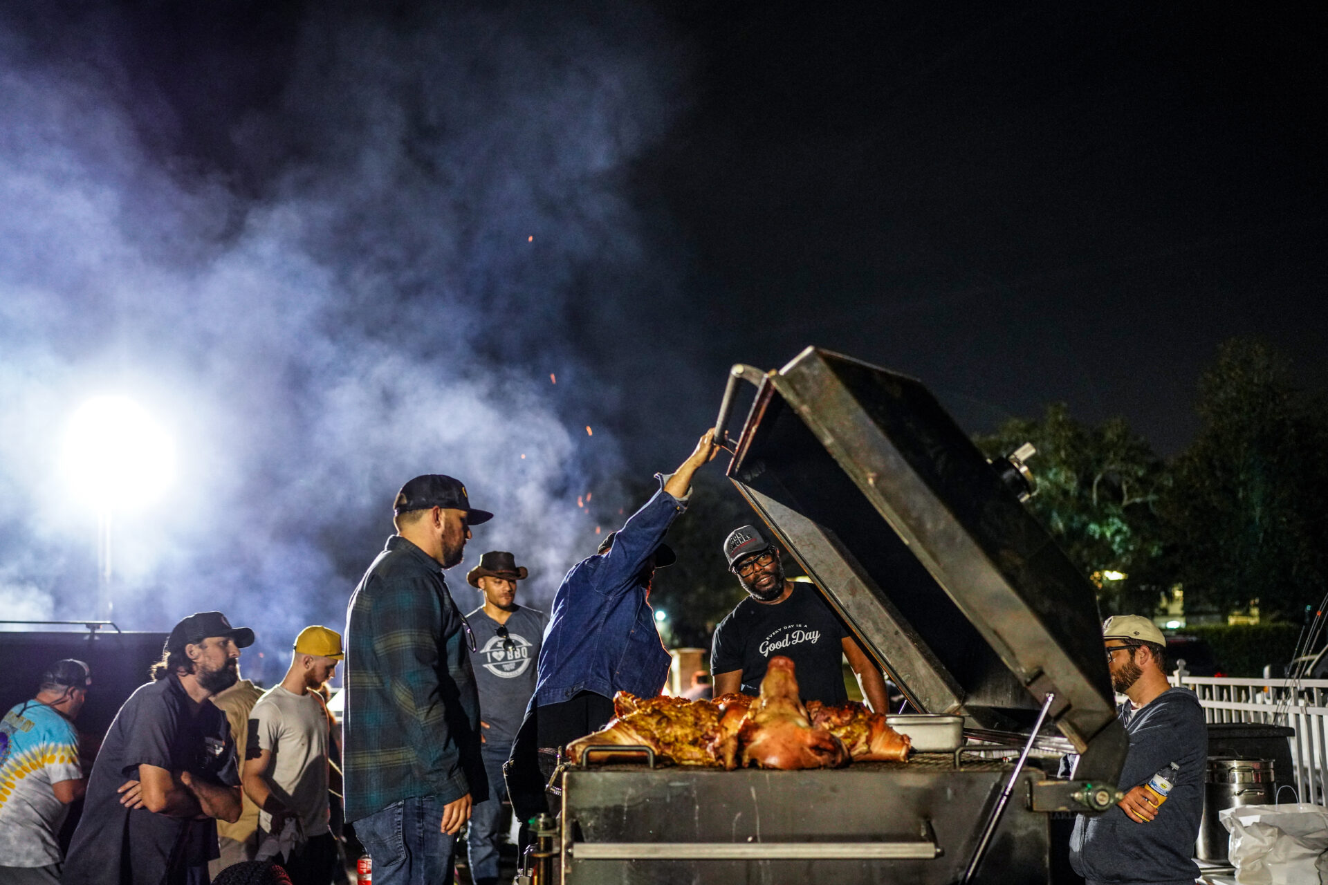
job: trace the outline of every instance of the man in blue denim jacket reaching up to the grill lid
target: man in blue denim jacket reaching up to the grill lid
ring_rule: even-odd
[[[655,629],[648,601],[657,567],[675,560],[663,544],[669,524],[687,508],[692,475],[714,458],[714,431],[671,475],[659,475],[657,491],[612,532],[599,552],[572,567],[554,596],[552,613],[539,649],[539,681],[526,710],[526,722],[513,746],[509,787],[540,803],[534,779],[534,752],[547,778],[558,747],[600,728],[614,716],[619,690],[652,698],[668,678],[669,654]],[[514,787],[513,782],[518,780]],[[513,801],[523,817],[537,808]],[[526,813],[526,812],[530,813]],[[542,811],[542,809],[540,809]]]

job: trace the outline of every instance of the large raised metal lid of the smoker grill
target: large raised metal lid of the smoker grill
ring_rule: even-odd
[[[922,383],[807,348],[761,381],[728,475],[915,707],[1028,728],[1054,693],[1076,776],[1114,782],[1093,586]]]

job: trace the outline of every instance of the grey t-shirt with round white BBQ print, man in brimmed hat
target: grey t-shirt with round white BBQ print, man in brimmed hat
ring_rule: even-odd
[[[477,650],[470,653],[470,663],[479,686],[479,720],[489,726],[481,726],[479,732],[486,747],[506,750],[521,728],[530,695],[535,694],[535,661],[548,616],[519,606],[506,624],[498,624],[479,606],[466,620],[475,634]],[[499,636],[501,626],[506,628],[506,637]]]

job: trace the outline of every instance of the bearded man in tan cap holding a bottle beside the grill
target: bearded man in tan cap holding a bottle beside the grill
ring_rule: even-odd
[[[1089,885],[1193,885],[1208,755],[1203,707],[1193,691],[1167,682],[1166,637],[1151,620],[1109,617],[1102,638],[1112,689],[1126,697],[1117,710],[1130,739],[1117,779],[1125,797],[1102,815],[1074,821],[1070,866]],[[1167,771],[1173,787],[1166,803],[1154,805],[1143,784],[1159,771]]]

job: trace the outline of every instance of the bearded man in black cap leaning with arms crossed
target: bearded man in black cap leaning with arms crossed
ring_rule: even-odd
[[[220,612],[170,632],[153,682],[120,707],[97,754],[65,885],[207,882],[215,821],[240,816],[235,740],[210,698],[235,685],[252,644]]]

